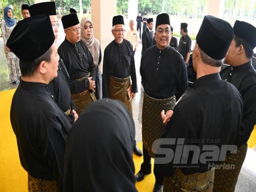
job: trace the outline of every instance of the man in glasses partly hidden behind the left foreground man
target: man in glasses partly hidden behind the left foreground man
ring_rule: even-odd
[[[55,2],[36,3],[29,6],[29,12],[32,17],[36,15],[49,15],[55,41],[57,41],[58,27],[60,26],[60,23],[58,22],[56,15]],[[48,89],[52,93],[52,98],[65,113],[69,122],[73,124],[78,118],[78,114],[76,113],[76,105],[73,102],[70,92],[70,86],[68,83],[69,74],[67,73],[67,69],[61,59],[58,62],[57,73],[58,76],[50,81]]]

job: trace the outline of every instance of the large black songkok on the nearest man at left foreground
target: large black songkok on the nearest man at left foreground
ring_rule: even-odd
[[[34,61],[54,43],[55,36],[49,16],[38,15],[20,20],[6,46],[22,61]],[[23,47],[26,45],[26,49]]]

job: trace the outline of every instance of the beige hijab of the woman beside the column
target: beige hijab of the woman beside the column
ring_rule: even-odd
[[[93,26],[93,22],[91,20],[89,20],[87,17],[84,17],[81,22],[80,22],[80,26],[81,26],[81,40],[86,44],[87,48],[89,49],[90,53],[93,56],[93,63],[95,65],[98,64],[99,62],[99,40],[96,39],[94,37],[94,35],[92,35],[92,38],[90,38],[89,40],[84,38],[84,25],[85,23],[89,21],[92,26]]]

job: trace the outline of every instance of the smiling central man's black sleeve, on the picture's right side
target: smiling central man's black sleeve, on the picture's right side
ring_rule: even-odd
[[[180,75],[178,79],[178,86],[177,86],[177,91],[175,93],[176,101],[180,99],[180,97],[185,92],[187,87],[188,87],[188,73],[186,70],[185,61],[182,58],[180,61]]]

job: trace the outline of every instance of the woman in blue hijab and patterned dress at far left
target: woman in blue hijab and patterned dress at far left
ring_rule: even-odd
[[[10,51],[8,47],[6,47],[6,42],[11,35],[12,30],[17,25],[17,20],[12,18],[12,9],[8,6],[3,9],[3,13],[4,16],[1,21],[1,29],[4,43],[4,52],[8,61],[9,81],[10,83],[16,84],[20,82],[19,59],[13,52]]]

